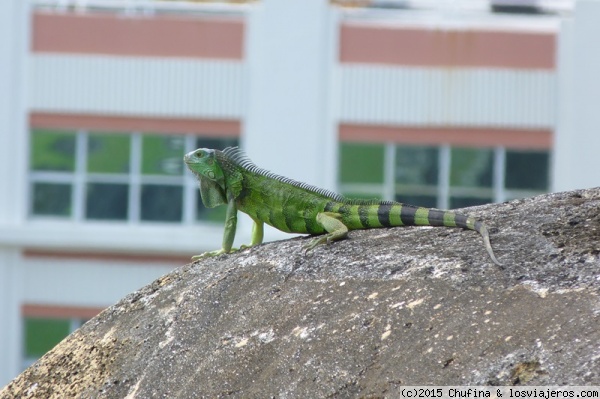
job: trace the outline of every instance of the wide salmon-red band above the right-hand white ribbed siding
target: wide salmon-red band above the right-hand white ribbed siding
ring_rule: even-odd
[[[343,23],[340,61],[428,67],[554,69],[556,35]]]

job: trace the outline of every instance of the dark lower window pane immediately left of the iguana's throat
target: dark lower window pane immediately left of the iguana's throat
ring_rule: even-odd
[[[177,186],[142,186],[142,220],[179,222],[183,189]]]

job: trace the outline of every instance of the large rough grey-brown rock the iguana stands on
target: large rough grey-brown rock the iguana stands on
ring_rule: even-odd
[[[600,385],[600,188],[470,208],[492,230],[355,231],[181,267],[0,391],[19,398],[394,397]]]

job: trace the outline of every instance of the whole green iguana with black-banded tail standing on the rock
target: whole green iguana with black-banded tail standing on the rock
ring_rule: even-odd
[[[250,246],[262,243],[263,223],[287,233],[321,235],[305,246],[306,252],[346,238],[349,230],[394,226],[462,227],[481,234],[490,258],[500,265],[487,227],[470,216],[399,202],[347,199],[261,169],[237,147],[223,151],[200,148],[186,154],[184,162],[198,179],[206,207],[227,204],[223,247],[192,259],[235,250],[232,245],[240,210],[254,221]]]

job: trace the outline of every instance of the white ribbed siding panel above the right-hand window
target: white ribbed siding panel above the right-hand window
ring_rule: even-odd
[[[556,76],[547,70],[342,65],[343,123],[552,127]]]

